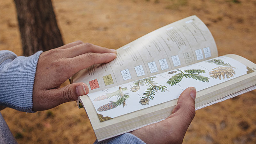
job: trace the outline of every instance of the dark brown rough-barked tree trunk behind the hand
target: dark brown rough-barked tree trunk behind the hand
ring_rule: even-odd
[[[23,55],[63,45],[51,0],[14,0]]]

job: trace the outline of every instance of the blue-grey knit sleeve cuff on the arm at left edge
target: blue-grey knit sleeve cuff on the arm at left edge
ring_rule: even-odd
[[[33,86],[41,53],[39,51],[29,57],[17,57],[11,51],[0,51],[0,105],[34,112]]]

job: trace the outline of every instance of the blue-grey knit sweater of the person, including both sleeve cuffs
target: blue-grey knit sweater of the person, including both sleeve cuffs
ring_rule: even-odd
[[[36,75],[36,66],[42,51],[30,57],[17,57],[10,51],[0,51],[0,105],[19,111],[31,112],[33,108],[32,94]],[[16,143],[0,113],[0,144]],[[142,140],[125,133],[123,135],[103,140],[99,143],[135,143],[144,144]]]

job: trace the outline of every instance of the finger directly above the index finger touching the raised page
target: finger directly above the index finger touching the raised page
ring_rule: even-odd
[[[93,53],[116,53],[116,50],[114,49],[108,49],[105,47],[101,47],[98,45],[90,44],[90,43],[83,43],[76,46],[73,46],[69,49],[65,50],[66,55],[69,58],[76,57],[78,55],[87,53],[87,52],[93,52]]]

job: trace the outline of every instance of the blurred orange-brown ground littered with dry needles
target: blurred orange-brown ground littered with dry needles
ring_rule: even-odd
[[[64,43],[82,40],[118,48],[176,20],[197,15],[219,55],[256,63],[255,0],[52,0]],[[15,5],[0,2],[0,50],[22,55]],[[68,84],[68,82],[63,85]],[[196,111],[184,143],[256,143],[256,91]],[[34,114],[1,111],[18,143],[93,143],[84,109],[75,102]]]

